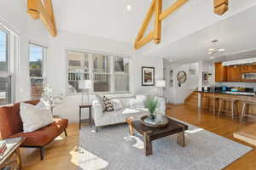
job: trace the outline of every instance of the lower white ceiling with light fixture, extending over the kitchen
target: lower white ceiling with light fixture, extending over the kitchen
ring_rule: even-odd
[[[150,53],[153,56],[163,56],[176,62],[194,62],[198,60],[225,60],[256,57],[256,6],[249,8],[230,18],[218,21],[212,26],[196,31],[189,36],[172,42],[166,47],[158,48]],[[218,42],[212,44],[213,39]],[[218,54],[207,54],[208,48],[225,48],[226,51]],[[248,52],[248,53],[245,53]],[[232,55],[231,55],[232,54]],[[234,54],[234,55],[233,55]],[[223,58],[225,55],[230,57]]]

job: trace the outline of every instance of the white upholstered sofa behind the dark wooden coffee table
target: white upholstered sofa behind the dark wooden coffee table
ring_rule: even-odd
[[[156,114],[166,115],[165,99],[160,97],[156,98],[158,99],[159,104],[156,110]],[[134,119],[138,119],[141,116],[148,115],[148,109],[146,108],[130,108],[131,99],[136,99],[136,97],[113,97],[111,99],[119,99],[123,105],[123,108],[119,111],[102,111],[102,105],[100,101],[96,99],[92,101],[92,117],[95,122],[96,130],[97,127],[125,122],[127,117],[132,116]]]

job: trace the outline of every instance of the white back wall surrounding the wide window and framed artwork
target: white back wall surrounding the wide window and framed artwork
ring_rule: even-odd
[[[126,54],[131,56],[130,89],[131,94],[157,94],[155,87],[142,87],[142,66],[155,67],[155,79],[162,79],[163,62],[160,58],[146,58],[137,54],[130,43],[92,37],[73,32],[59,31],[57,37],[49,38],[49,56],[46,64],[46,77],[56,94],[66,94],[67,89],[67,49],[81,51],[106,52],[110,54]],[[66,96],[63,104],[55,109],[55,113],[67,117],[71,122],[78,121],[80,94]],[[84,110],[84,112],[86,112]],[[87,116],[87,114],[83,114]]]

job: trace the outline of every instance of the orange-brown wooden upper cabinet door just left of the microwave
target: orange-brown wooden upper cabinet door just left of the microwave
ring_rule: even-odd
[[[228,82],[241,82],[241,65],[234,65],[227,67]]]

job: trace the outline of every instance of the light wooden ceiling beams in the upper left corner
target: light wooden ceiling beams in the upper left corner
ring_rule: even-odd
[[[27,13],[33,19],[40,18],[53,37],[57,35],[51,0],[44,0],[44,4],[41,0],[27,0]]]

